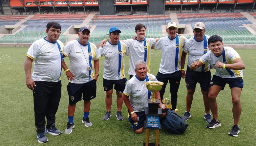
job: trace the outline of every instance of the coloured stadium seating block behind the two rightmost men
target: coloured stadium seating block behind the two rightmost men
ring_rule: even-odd
[[[177,17],[180,24],[190,24],[192,27],[199,21],[203,22],[205,34],[220,35],[224,44],[255,44],[255,36],[243,26],[251,22],[239,12],[177,13]]]

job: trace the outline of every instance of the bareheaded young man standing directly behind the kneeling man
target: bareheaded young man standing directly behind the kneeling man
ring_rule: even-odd
[[[128,69],[128,74],[130,75],[130,79],[136,74],[134,64],[138,60],[143,60],[147,63],[148,73],[150,73],[150,69],[149,69],[150,57],[151,57],[150,49],[158,41],[158,39],[145,38],[146,27],[141,23],[135,26],[135,33],[137,34],[136,40],[128,39],[123,41],[129,47],[126,50],[126,53],[127,55],[130,56],[129,69]],[[105,44],[106,42],[107,40],[105,39],[101,42],[100,45],[103,47],[103,44]]]

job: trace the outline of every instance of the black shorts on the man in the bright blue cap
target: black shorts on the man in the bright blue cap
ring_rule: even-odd
[[[107,80],[103,78],[104,91],[109,91],[113,89],[113,85],[115,84],[115,90],[119,93],[123,93],[126,81],[126,78],[120,80]]]

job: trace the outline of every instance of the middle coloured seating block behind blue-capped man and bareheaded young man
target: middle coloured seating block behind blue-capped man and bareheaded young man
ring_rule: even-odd
[[[170,15],[98,15],[89,23],[96,25],[91,34],[91,41],[100,43],[102,39],[109,38],[110,27],[117,27],[121,30],[120,40],[132,39],[135,33],[135,26],[142,23],[146,26],[146,37],[162,37],[161,25],[167,25],[171,21]]]

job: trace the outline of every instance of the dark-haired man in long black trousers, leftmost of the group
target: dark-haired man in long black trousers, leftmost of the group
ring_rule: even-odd
[[[55,127],[55,114],[61,97],[60,75],[64,46],[58,40],[61,26],[57,22],[49,22],[45,31],[47,36],[30,46],[24,63],[26,84],[34,97],[36,137],[39,143],[48,141],[45,133],[54,136],[61,134]],[[35,63],[31,76],[33,61]]]

